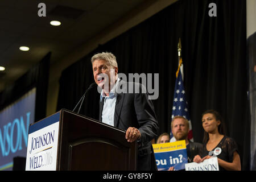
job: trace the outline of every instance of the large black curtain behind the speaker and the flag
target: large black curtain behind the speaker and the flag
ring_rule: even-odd
[[[208,15],[212,2],[217,5],[216,17]],[[153,103],[159,135],[170,133],[179,38],[194,140],[203,139],[201,113],[207,109],[219,111],[227,135],[238,143],[242,169],[249,169],[246,1],[177,1],[65,69],[57,110],[75,107],[94,81],[90,57],[108,51],[117,57],[118,72],[127,77],[128,73],[159,73],[159,97]],[[98,119],[100,94],[93,91],[86,97],[81,113]]]

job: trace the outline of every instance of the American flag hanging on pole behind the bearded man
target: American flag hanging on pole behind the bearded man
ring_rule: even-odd
[[[176,115],[180,115],[188,119],[188,122],[189,122],[188,139],[193,141],[192,125],[191,125],[191,120],[190,120],[189,111],[188,111],[188,102],[185,96],[185,89],[184,89],[180,69],[175,82],[174,102],[172,104],[172,118],[174,118]],[[171,138],[170,142],[176,141],[176,139],[174,138],[174,135],[172,135],[172,131],[170,133],[170,138]]]

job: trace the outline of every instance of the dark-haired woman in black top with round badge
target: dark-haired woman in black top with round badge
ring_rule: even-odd
[[[222,170],[241,170],[240,155],[234,139],[227,137],[221,115],[215,110],[207,110],[202,114],[204,128],[203,150],[196,155],[194,162],[200,163],[212,156],[217,156],[218,166]]]

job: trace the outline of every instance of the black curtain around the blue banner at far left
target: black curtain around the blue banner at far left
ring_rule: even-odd
[[[15,83],[0,93],[0,110],[22,97],[36,87],[35,121],[46,117],[47,88],[49,78],[49,61],[51,52],[36,64]]]

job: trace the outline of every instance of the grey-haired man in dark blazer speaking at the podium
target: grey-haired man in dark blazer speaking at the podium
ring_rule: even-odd
[[[157,170],[151,140],[158,135],[154,105],[144,87],[118,78],[115,56],[109,52],[91,59],[94,81],[101,88],[99,120],[126,130],[127,142],[138,140],[138,170]],[[130,89],[129,89],[130,88]]]

